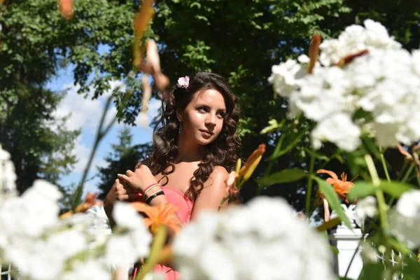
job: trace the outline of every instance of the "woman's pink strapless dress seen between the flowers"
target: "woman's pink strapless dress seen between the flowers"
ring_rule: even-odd
[[[188,197],[181,192],[181,190],[176,188],[162,186],[162,190],[165,193],[167,201],[174,204],[176,207],[179,207],[176,211],[179,220],[181,220],[184,224],[188,223],[190,221],[191,214],[193,213],[193,202],[189,200]],[[137,201],[144,202],[144,197],[139,194],[139,199]],[[165,265],[156,265],[155,272],[165,274],[165,279],[167,280],[178,280],[181,277],[179,272]]]

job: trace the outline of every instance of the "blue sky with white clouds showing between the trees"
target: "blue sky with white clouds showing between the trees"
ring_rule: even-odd
[[[59,104],[55,114],[57,116],[66,116],[71,113],[69,120],[67,121],[67,127],[69,129],[81,129],[81,134],[78,139],[76,139],[76,148],[74,149],[74,154],[78,158],[78,163],[75,168],[66,176],[64,176],[59,183],[62,183],[64,186],[70,185],[71,183],[78,183],[83,175],[83,171],[86,167],[87,160],[92,151],[92,146],[94,145],[94,139],[96,136],[97,127],[99,125],[99,120],[102,116],[102,111],[104,109],[104,104],[106,97],[102,96],[99,99],[92,100],[92,94],[90,94],[87,99],[83,95],[77,94],[77,85],[73,85],[73,66],[70,65],[66,69],[61,69],[57,76],[53,77],[47,87],[50,90],[62,91],[67,90],[66,97],[61,104]],[[115,81],[115,84],[120,83],[120,81]],[[104,95],[111,93],[106,92]],[[148,119],[151,120],[157,113],[160,108],[160,101],[152,100],[148,106]],[[116,108],[112,105],[109,109],[106,116],[106,123],[109,123],[109,120],[116,114]],[[133,134],[133,144],[143,144],[151,141],[152,139],[152,129],[151,127],[141,126],[139,120],[137,120],[137,126],[131,127],[130,130]],[[104,167],[106,166],[106,155],[111,152],[111,144],[118,143],[118,131],[121,130],[125,125],[123,123],[116,123],[113,125],[112,129],[108,134],[102,139],[97,149],[93,164],[90,168],[90,172],[87,178],[90,178],[98,173],[97,166]],[[132,167],[127,167],[130,169]],[[122,170],[121,172],[124,172]],[[96,192],[97,184],[99,179],[95,177],[94,179],[85,183],[84,193],[87,191]]]

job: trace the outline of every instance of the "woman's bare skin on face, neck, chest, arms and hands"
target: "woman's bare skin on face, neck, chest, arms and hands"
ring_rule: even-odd
[[[133,199],[136,197],[136,193],[143,192],[147,186],[160,181],[160,179],[162,179],[161,183],[167,183],[166,186],[186,193],[190,186],[190,179],[202,160],[203,147],[214,141],[221,133],[225,111],[223,95],[217,90],[206,90],[201,93],[197,92],[186,109],[176,113],[183,130],[179,136],[179,154],[175,160],[174,172],[167,175],[167,179],[162,179],[162,174],[153,176],[146,165],[141,165],[134,172],[127,170],[126,174],[118,174],[118,179],[106,196],[104,203],[111,226],[113,226],[111,212],[116,201]],[[223,198],[228,196],[225,185],[228,175],[224,167],[214,168],[194,202],[191,219],[197,218],[203,210],[218,210]],[[153,189],[153,191],[155,190],[158,188]],[[160,195],[155,197],[150,204],[157,206],[166,202],[165,195]],[[225,202],[221,208],[224,209],[227,204]]]

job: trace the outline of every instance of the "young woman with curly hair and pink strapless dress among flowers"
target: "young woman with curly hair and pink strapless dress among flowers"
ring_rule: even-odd
[[[134,172],[118,174],[106,196],[109,218],[116,200],[140,200],[151,205],[170,202],[179,207],[179,220],[188,223],[204,209],[217,211],[228,196],[225,181],[240,147],[236,134],[239,110],[237,97],[223,77],[200,72],[179,78],[174,90],[163,98],[162,108],[151,158]],[[158,271],[166,273],[167,279],[178,277],[163,265]]]

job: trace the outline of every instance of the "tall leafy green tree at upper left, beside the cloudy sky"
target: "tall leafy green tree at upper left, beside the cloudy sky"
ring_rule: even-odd
[[[109,89],[109,81],[128,76],[136,5],[79,0],[76,17],[66,21],[55,0],[2,2],[0,143],[13,156],[22,192],[37,178],[57,183],[75,162],[71,151],[79,132],[55,117],[62,94],[46,90],[45,84],[72,64],[80,94],[94,86],[97,97]],[[99,53],[100,45],[108,50]],[[133,100],[139,96],[135,85]]]

